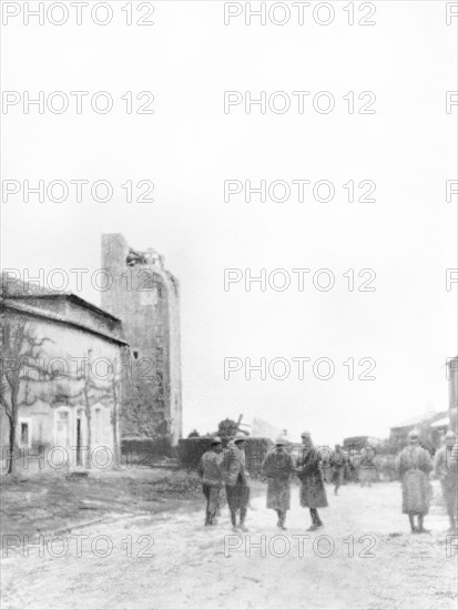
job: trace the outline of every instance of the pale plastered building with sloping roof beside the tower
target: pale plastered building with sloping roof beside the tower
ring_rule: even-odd
[[[2,466],[12,416],[20,466],[116,465],[122,365],[129,352],[121,322],[71,293],[7,275],[1,284]]]

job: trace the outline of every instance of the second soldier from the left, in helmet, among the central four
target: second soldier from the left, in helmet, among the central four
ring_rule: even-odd
[[[248,531],[245,526],[246,511],[250,502],[250,487],[245,471],[245,435],[237,433],[227,445],[223,459],[223,476],[226,488],[227,504],[231,510],[231,522],[234,531],[240,528]],[[240,523],[237,526],[237,511]]]

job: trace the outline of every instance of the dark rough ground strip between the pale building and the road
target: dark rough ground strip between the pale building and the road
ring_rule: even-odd
[[[182,508],[201,497],[195,472],[166,468],[93,470],[89,477],[40,476],[0,478],[2,533],[62,532],[110,517],[155,515]]]

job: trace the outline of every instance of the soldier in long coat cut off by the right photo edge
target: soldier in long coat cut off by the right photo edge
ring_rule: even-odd
[[[439,478],[444,500],[450,521],[449,531],[455,533],[457,528],[457,481],[458,481],[458,445],[452,430],[448,430],[445,445],[435,455],[435,475]]]

